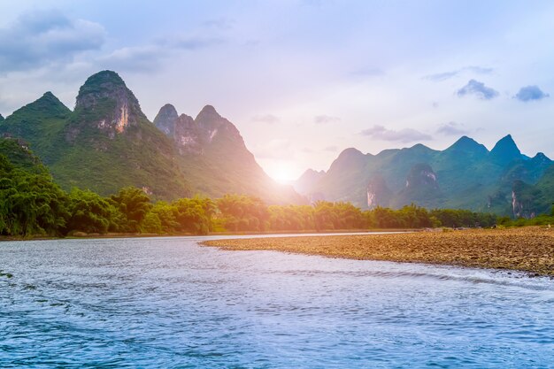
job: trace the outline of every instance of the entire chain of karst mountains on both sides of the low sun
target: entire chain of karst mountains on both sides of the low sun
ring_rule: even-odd
[[[349,201],[371,209],[414,203],[514,217],[550,212],[554,201],[552,161],[521,154],[511,135],[490,151],[466,136],[442,151],[422,144],[377,155],[350,148],[327,172],[306,171],[296,192],[267,176],[235,125],[211,105],[192,118],[165,104],[152,123],[111,71],[88,78],[73,111],[47,92],[0,116],[0,136],[12,140],[0,142],[0,153],[30,167],[14,145],[30,146],[38,157],[31,161],[42,161],[60,186],[103,196],[135,186],[165,200],[237,193],[269,204]]]

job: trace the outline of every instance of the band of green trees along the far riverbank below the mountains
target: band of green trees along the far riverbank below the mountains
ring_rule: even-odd
[[[270,205],[254,196],[181,198],[153,203],[140,188],[103,197],[59,188],[48,171],[29,172],[0,155],[0,234],[12,236],[323,231],[369,228],[490,227],[496,216],[463,210],[361,211],[350,203]]]

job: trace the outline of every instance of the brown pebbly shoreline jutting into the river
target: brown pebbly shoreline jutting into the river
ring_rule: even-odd
[[[224,239],[201,245],[222,250],[273,250],[327,258],[513,270],[554,277],[554,229],[545,227]]]

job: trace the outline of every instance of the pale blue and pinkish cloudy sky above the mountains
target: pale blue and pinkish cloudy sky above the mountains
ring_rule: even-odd
[[[554,158],[550,1],[19,0],[0,14],[4,117],[46,91],[73,109],[110,69],[150,120],[212,104],[280,181],[350,147],[461,135]]]

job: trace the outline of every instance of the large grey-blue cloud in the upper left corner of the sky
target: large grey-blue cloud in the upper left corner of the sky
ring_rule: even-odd
[[[26,12],[12,27],[0,29],[0,71],[24,71],[71,61],[83,51],[98,50],[106,32],[84,19],[58,11]]]

